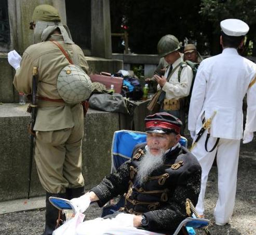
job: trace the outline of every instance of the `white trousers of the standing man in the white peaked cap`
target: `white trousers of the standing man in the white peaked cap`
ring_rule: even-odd
[[[214,218],[217,223],[228,223],[233,213],[236,196],[236,179],[240,140],[220,139],[217,148],[211,153],[205,150],[207,131],[197,142],[192,153],[196,156],[202,168],[201,191],[196,205],[199,214],[204,214],[204,197],[209,171],[217,153],[218,167],[218,201],[214,209]],[[217,138],[210,137],[208,151],[212,149]]]

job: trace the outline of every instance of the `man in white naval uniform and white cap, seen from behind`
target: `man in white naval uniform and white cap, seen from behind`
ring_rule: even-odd
[[[201,136],[192,153],[202,167],[201,191],[196,209],[203,215],[208,173],[218,151],[219,198],[214,218],[216,225],[224,226],[230,221],[235,204],[242,138],[242,99],[246,94],[248,108],[243,143],[252,141],[253,131],[256,131],[256,83],[255,64],[237,53],[249,26],[241,20],[227,19],[221,22],[221,29],[222,53],[202,61],[197,71],[188,114],[188,129],[195,141],[203,119],[209,119],[216,111],[210,130]],[[207,133],[210,133],[210,137],[205,146]],[[218,139],[216,148],[210,152]]]

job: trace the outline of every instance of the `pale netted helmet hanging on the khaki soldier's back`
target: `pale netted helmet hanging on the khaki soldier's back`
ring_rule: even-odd
[[[90,77],[76,65],[67,65],[57,79],[60,97],[68,104],[76,104],[89,98],[92,91]]]

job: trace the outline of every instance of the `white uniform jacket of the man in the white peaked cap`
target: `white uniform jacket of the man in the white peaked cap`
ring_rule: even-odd
[[[198,131],[204,115],[208,119],[214,111],[210,134],[226,139],[242,138],[242,99],[247,93],[246,129],[256,131],[255,64],[240,56],[234,48],[226,48],[219,55],[201,62],[195,78],[188,129]]]

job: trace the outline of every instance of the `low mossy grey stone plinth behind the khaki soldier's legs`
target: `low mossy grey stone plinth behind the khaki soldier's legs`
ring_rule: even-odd
[[[0,201],[25,198],[28,183],[30,115],[26,105],[0,105]],[[86,189],[98,184],[111,170],[111,143],[119,130],[118,113],[89,110],[82,145]],[[31,197],[44,195],[35,163],[32,168]]]

